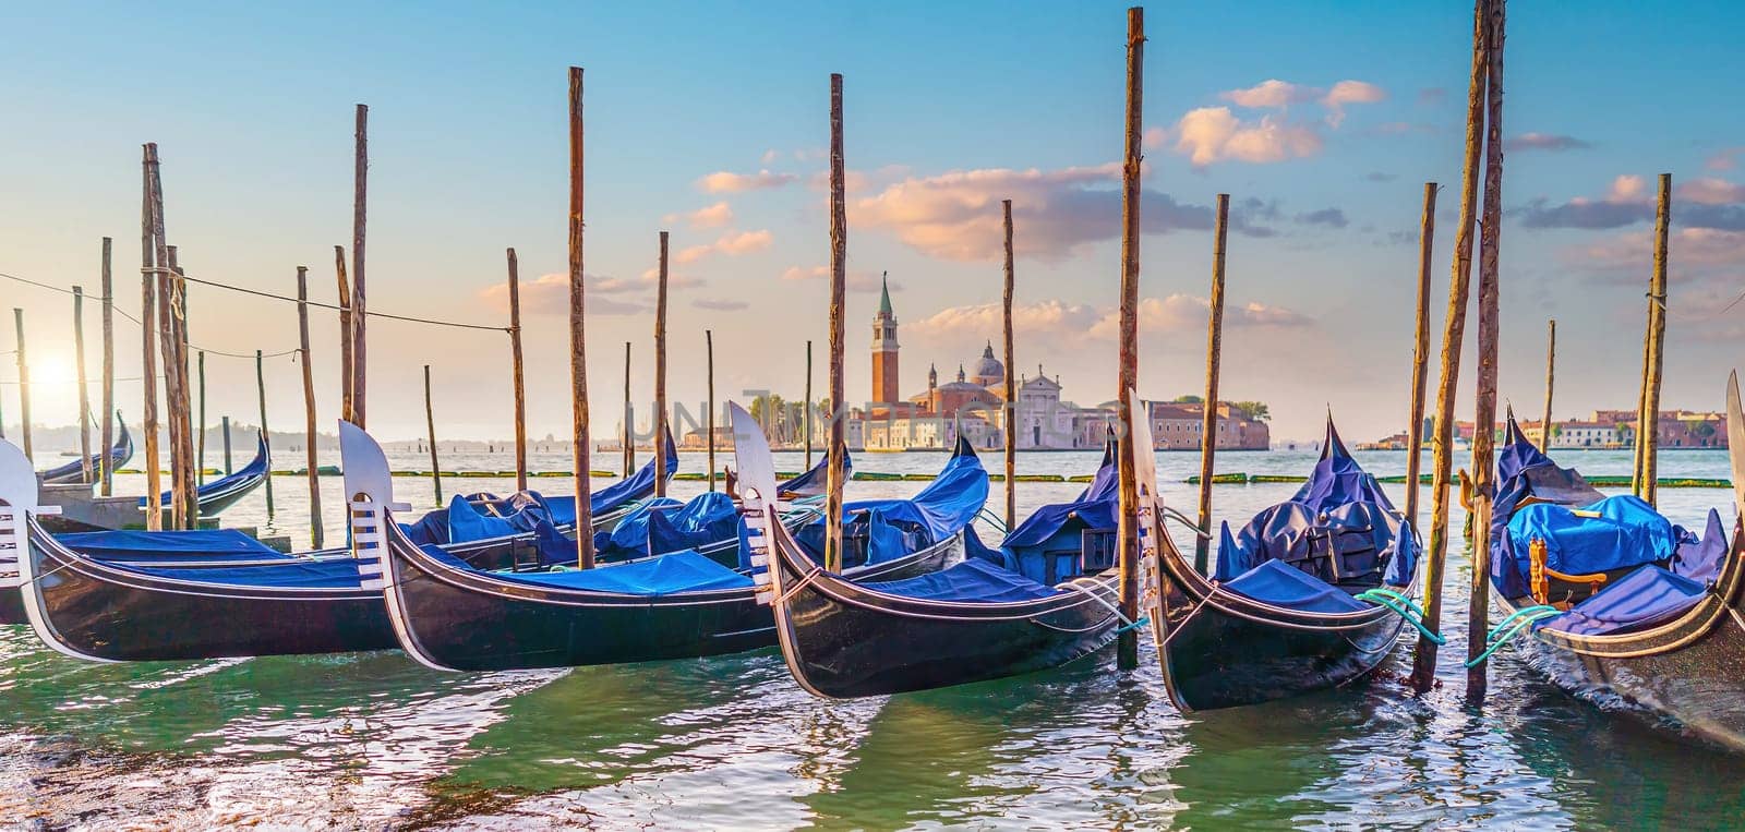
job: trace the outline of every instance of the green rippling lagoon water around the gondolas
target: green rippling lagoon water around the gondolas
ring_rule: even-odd
[[[415,454],[396,467],[424,467]],[[1461,455],[1464,457],[1464,454]],[[606,455],[606,459],[616,459]],[[724,455],[722,459],[728,459]],[[998,455],[984,457],[991,469]],[[1375,474],[1403,454],[1363,452]],[[1628,474],[1628,452],[1567,452],[1588,474]],[[941,454],[864,454],[857,471],[928,473]],[[445,455],[501,471],[506,454]],[[536,454],[536,469],[567,467]],[[1021,473],[1089,474],[1096,454],[1031,454]],[[1426,455],[1426,469],[1427,469]],[[281,467],[288,464],[281,460]],[[686,454],[681,471],[701,467]],[[1223,454],[1220,471],[1302,474],[1312,452]],[[797,471],[799,454],[777,467]],[[1159,455],[1166,499],[1190,509],[1197,455]],[[1668,452],[1663,476],[1726,478],[1722,452]],[[120,476],[119,492],[140,480]],[[396,497],[433,504],[428,480]],[[536,487],[567,488],[565,480]],[[677,481],[679,497],[703,483]],[[920,483],[857,481],[853,497]],[[307,485],[276,478],[227,525],[307,541]],[[993,485],[989,504],[1003,485]],[[1082,485],[1017,483],[1019,513]],[[1220,485],[1232,525],[1295,485]],[[1399,501],[1403,485],[1389,485]],[[445,494],[513,490],[452,478]],[[323,480],[328,537],[340,480]],[[1424,490],[1424,518],[1429,490]],[[1722,488],[1661,492],[1698,525]],[[1454,527],[1462,523],[1459,506]],[[1185,541],[1180,529],[1178,542]],[[991,535],[991,532],[984,534]],[[1459,541],[1459,539],[1457,539]],[[1466,556],[1454,551],[1445,623],[1464,644]],[[169,624],[169,623],[162,623]],[[141,621],[140,626],[154,626]],[[1577,701],[1511,651],[1483,708],[1462,703],[1459,649],[1443,687],[1415,698],[1401,642],[1387,670],[1345,691],[1181,717],[1150,654],[1112,651],[1021,679],[921,694],[820,701],[775,651],[701,661],[522,673],[436,673],[398,652],[206,663],[82,665],[24,628],[0,628],[0,822],[195,829],[1721,829],[1745,818],[1745,759],[1679,743],[1637,717]]]

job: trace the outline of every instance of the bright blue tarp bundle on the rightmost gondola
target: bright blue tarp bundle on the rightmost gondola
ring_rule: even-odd
[[[1520,586],[1529,583],[1532,541],[1544,541],[1546,569],[1569,576],[1666,562],[1680,542],[1672,522],[1640,497],[1628,494],[1605,497],[1583,509],[1536,502],[1509,518],[1508,535],[1509,548],[1502,569],[1520,581]]]

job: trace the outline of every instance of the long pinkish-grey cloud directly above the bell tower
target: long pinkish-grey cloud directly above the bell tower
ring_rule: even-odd
[[[1016,253],[1059,260],[1120,234],[1119,183],[1120,164],[1115,162],[909,176],[852,201],[850,225],[888,230],[911,248],[944,260],[996,260],[1005,244],[1000,201],[1010,199]],[[1211,208],[1180,204],[1157,190],[1143,190],[1139,199],[1139,228],[1146,234],[1211,228]],[[1255,225],[1242,208],[1232,211],[1230,228],[1251,237],[1274,234]]]

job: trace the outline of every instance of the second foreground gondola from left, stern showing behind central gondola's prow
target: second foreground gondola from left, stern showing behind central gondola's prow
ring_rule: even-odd
[[[408,656],[431,668],[611,665],[775,644],[749,563],[735,569],[684,549],[586,570],[480,570],[417,546],[391,522],[393,509],[384,506],[391,506],[393,481],[368,434],[342,424],[340,448],[347,490],[361,497],[352,502],[352,539],[363,558],[386,551],[394,633]],[[361,478],[358,485],[352,474]],[[975,452],[961,447],[913,501],[845,506],[862,530],[850,572],[897,579],[944,567],[961,553],[961,530],[986,497],[988,473]],[[574,546],[567,555],[574,556]]]

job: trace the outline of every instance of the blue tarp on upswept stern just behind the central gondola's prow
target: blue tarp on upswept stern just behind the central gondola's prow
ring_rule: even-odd
[[[913,499],[857,501],[843,506],[845,537],[867,537],[867,563],[883,563],[944,542],[975,520],[988,502],[988,471],[960,436],[939,476]],[[813,556],[824,553],[824,518],[803,527],[796,541]]]

